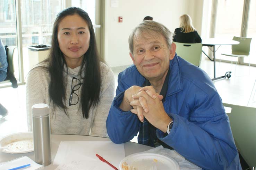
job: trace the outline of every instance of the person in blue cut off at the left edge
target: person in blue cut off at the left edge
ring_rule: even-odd
[[[0,82],[4,81],[7,77],[7,56],[5,51],[5,46],[0,38]],[[8,111],[3,105],[0,103],[0,119],[8,115]]]

